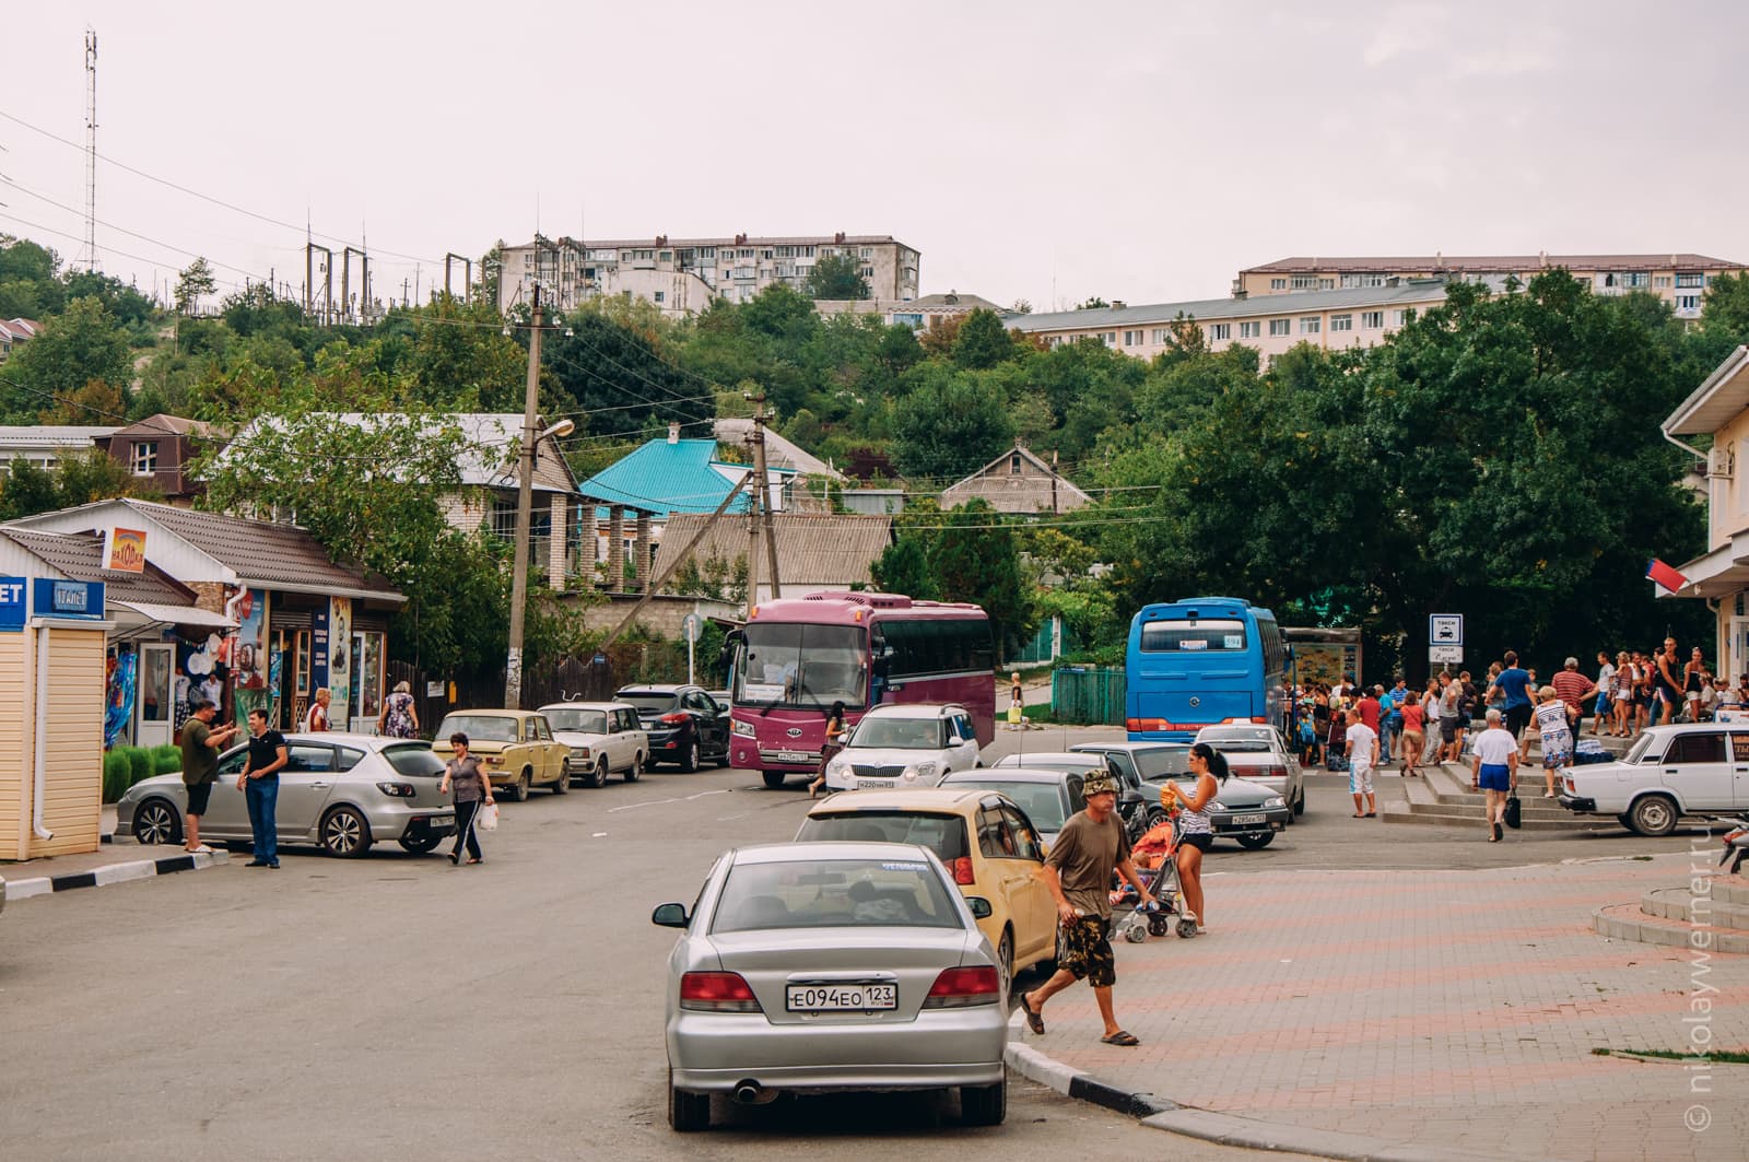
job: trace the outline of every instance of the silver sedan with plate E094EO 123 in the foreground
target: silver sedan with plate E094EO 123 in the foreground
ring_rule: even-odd
[[[710,1096],[958,1087],[962,1120],[1007,1115],[995,948],[927,847],[773,844],[717,859],[668,956],[668,1124]]]

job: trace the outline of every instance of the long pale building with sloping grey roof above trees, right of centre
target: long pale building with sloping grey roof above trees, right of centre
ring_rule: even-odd
[[[1137,359],[1165,352],[1177,320],[1202,327],[1209,350],[1244,343],[1263,354],[1265,366],[1296,343],[1327,350],[1371,346],[1399,329],[1410,312],[1445,301],[1445,278],[1392,278],[1382,287],[1307,290],[1282,296],[1235,296],[1195,303],[1126,306],[1114,303],[1079,312],[1011,315],[1009,331],[1042,340],[1048,346],[1095,340]]]

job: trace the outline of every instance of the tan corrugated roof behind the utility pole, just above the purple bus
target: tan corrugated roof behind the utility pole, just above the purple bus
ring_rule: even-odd
[[[675,513],[661,534],[656,567],[666,569],[665,553],[679,553],[687,541],[710,520],[708,513]],[[843,516],[838,513],[777,513],[771,516],[777,536],[778,579],[792,584],[848,586],[868,584],[869,565],[892,544],[890,516]],[[693,555],[700,560],[733,562],[749,548],[747,522],[719,520]],[[759,562],[764,576],[764,562]],[[764,578],[770,583],[770,578]],[[787,592],[787,590],[785,590]]]

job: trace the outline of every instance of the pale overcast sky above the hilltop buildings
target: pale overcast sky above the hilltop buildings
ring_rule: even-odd
[[[68,261],[87,24],[100,266],[142,289],[296,287],[306,215],[397,299],[537,228],[894,234],[923,292],[1039,310],[1296,254],[1749,261],[1735,0],[9,5],[0,231]]]

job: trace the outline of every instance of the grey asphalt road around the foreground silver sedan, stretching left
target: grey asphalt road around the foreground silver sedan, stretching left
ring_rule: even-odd
[[[1007,1124],[937,1096],[665,1120],[663,900],[782,840],[799,784],[749,772],[505,805],[486,863],[283,850],[0,915],[0,1143],[59,1158],[1235,1158],[1011,1082]],[[1313,828],[1307,828],[1310,835]],[[119,858],[131,852],[115,849]]]

